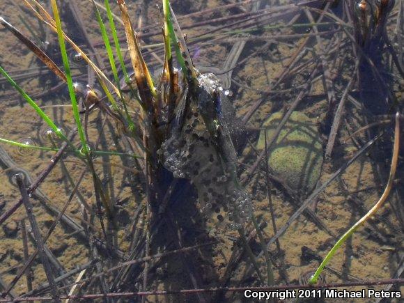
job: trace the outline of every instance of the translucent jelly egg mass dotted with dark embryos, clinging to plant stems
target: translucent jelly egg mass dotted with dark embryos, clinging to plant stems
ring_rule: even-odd
[[[217,134],[212,134],[206,125],[216,121],[217,107],[212,103],[217,98],[215,94],[222,93],[226,98],[225,91],[219,92],[219,87],[215,75],[199,77],[198,104],[189,103],[183,127],[164,141],[160,155],[175,178],[187,178],[194,185],[198,207],[205,219],[218,227],[226,224],[238,229],[249,220],[251,199],[244,189],[238,188],[234,157],[228,157],[223,151],[233,149],[235,155],[233,144],[223,147]]]

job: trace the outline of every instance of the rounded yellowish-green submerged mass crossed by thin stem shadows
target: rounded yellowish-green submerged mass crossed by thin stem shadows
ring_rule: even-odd
[[[283,113],[277,112],[263,123],[267,142],[274,137]],[[265,147],[265,131],[261,130],[257,148]],[[283,126],[277,141],[268,153],[268,165],[275,176],[300,194],[311,192],[320,178],[323,165],[323,145],[313,120],[299,111],[293,111]]]

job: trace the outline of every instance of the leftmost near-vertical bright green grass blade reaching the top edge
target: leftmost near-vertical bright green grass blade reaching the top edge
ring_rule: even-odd
[[[75,88],[73,87],[72,75],[70,74],[70,65],[69,65],[69,60],[68,60],[68,53],[66,52],[65,39],[63,37],[61,17],[59,16],[59,10],[58,10],[58,6],[56,5],[56,0],[51,0],[51,4],[52,4],[52,10],[54,13],[54,19],[56,22],[56,30],[58,32],[59,47],[61,48],[63,65],[65,66],[65,75],[68,80],[68,88],[69,88],[70,100],[72,102],[73,115],[75,116],[75,121],[77,124],[77,130],[79,132],[81,146],[83,146],[82,152],[84,154],[88,154],[88,146],[86,143],[86,139],[84,137],[83,127],[81,126],[79,108],[77,107]]]

